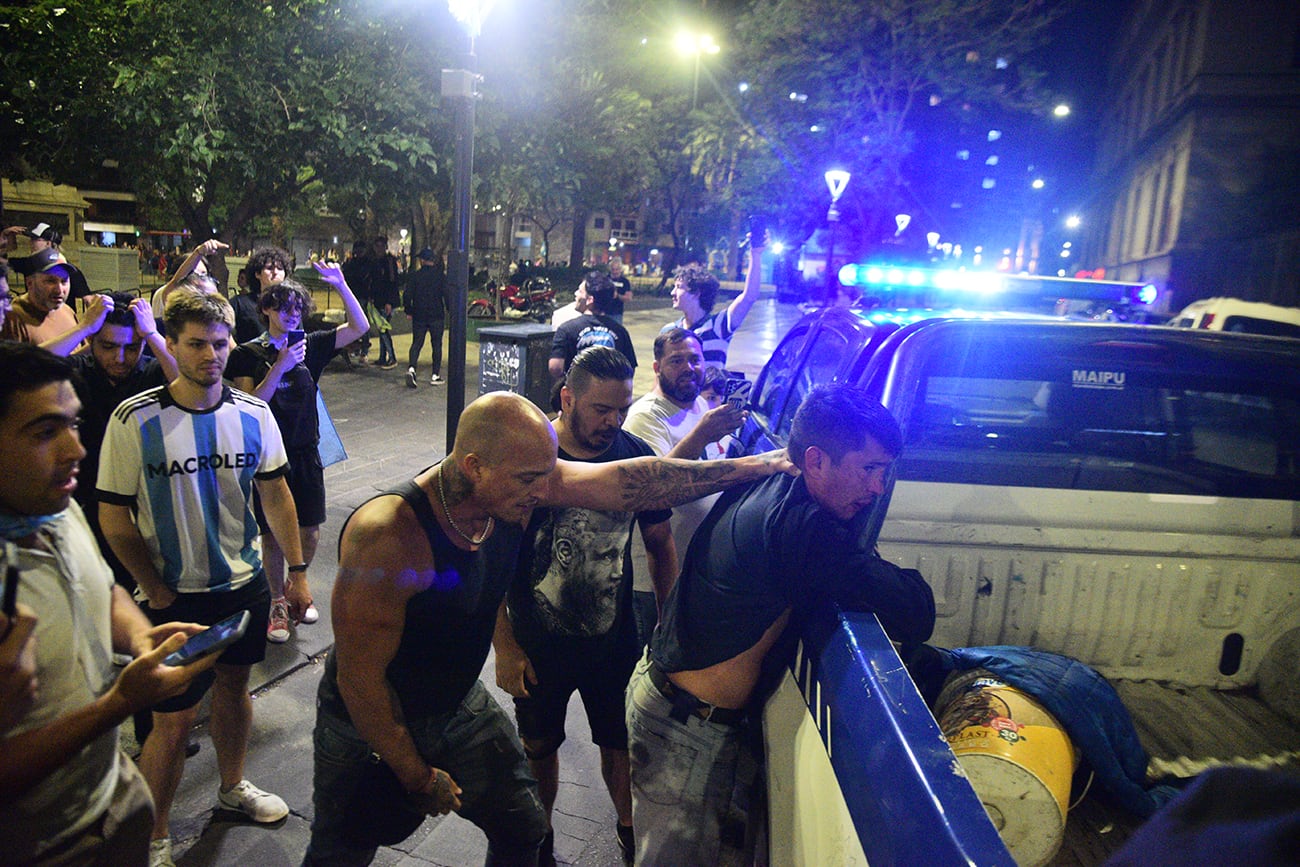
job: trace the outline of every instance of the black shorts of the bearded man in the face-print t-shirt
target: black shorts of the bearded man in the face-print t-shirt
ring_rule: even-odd
[[[543,759],[564,742],[564,716],[575,690],[582,697],[592,742],[610,750],[628,749],[623,695],[640,649],[610,638],[551,637],[528,651],[537,682],[528,684],[528,698],[515,699],[519,736],[541,747],[534,753],[525,744],[528,758]]]

